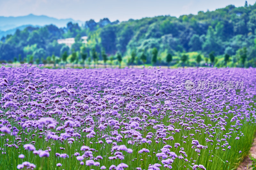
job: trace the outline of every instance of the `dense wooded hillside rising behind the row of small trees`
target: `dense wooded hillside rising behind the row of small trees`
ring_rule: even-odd
[[[52,54],[61,57],[64,51],[71,54],[74,51],[81,52],[81,49],[86,49],[85,52],[90,57],[91,49],[95,48],[100,60],[104,49],[107,55],[119,52],[127,58],[127,62],[130,61],[132,52],[137,56],[143,53],[147,56],[143,63],[151,63],[152,49],[156,48],[159,64],[164,63],[164,57],[168,53],[180,56],[194,51],[205,58],[210,53],[215,56],[228,54],[232,62],[237,63],[238,53],[244,52],[249,66],[255,66],[255,34],[256,3],[246,3],[244,7],[229,5],[215,11],[199,11],[197,15],[183,15],[179,18],[158,16],[130,19],[121,23],[104,18],[98,23],[94,20],[86,21],[84,27],[75,23],[68,23],[65,28],[53,25],[27,27],[1,39],[0,60],[13,60],[19,55],[21,59],[33,55],[34,60],[36,57],[43,60]],[[80,41],[81,36],[88,36],[87,44]],[[76,43],[71,48],[56,41],[69,37],[76,37]]]

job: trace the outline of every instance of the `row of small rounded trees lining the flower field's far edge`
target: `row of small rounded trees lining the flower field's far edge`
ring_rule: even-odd
[[[256,42],[256,40],[255,40],[255,42]],[[71,67],[74,67],[75,64],[76,64],[76,66],[80,65],[83,68],[85,68],[86,64],[89,65],[89,67],[90,67],[90,65],[92,63],[93,63],[94,68],[96,68],[96,65],[98,65],[98,64],[103,64],[105,68],[107,67],[107,65],[112,67],[113,65],[118,64],[119,68],[121,68],[122,64],[123,64],[123,66],[133,67],[134,65],[140,65],[140,64],[138,64],[139,62],[144,65],[147,61],[147,55],[145,53],[141,53],[139,55],[139,54],[136,53],[136,50],[132,51],[129,60],[127,60],[125,63],[122,63],[123,62],[123,56],[121,55],[120,52],[117,52],[116,55],[108,56],[104,49],[101,50],[100,53],[98,53],[95,48],[92,48],[92,51],[88,54],[86,52],[85,47],[82,47],[80,51],[75,51],[74,49],[72,49],[71,51],[72,51],[71,54],[68,54],[68,51],[63,51],[63,53],[60,57],[55,56],[53,54],[52,56],[46,57],[46,59],[43,60],[42,62],[40,61],[40,58],[36,58],[36,60],[34,60],[33,55],[30,55],[28,60],[27,60],[27,58],[22,60],[20,55],[19,55],[18,59],[16,57],[14,57],[14,61],[9,61],[9,63],[13,63],[13,62],[14,63],[20,63],[20,64],[36,63],[38,65],[43,63],[44,65],[53,64],[54,67],[56,67],[56,64],[57,64],[58,67],[63,66],[63,68],[65,68],[65,66],[68,63],[71,64]],[[151,64],[153,66],[156,66],[157,63],[159,62],[158,61],[159,52],[158,52],[157,48],[153,48],[151,53],[152,53]],[[102,56],[101,61],[99,61],[99,56],[100,55]],[[224,66],[228,66],[228,63],[232,62],[230,57],[231,56],[229,54],[225,54],[223,56]],[[245,47],[238,50],[237,58],[239,60],[240,65],[236,65],[236,66],[237,67],[239,67],[239,66],[244,67],[245,66],[245,61],[247,59],[247,49]],[[203,58],[203,56],[201,54],[197,54],[196,57],[195,57],[196,64],[193,65],[193,66],[196,66],[196,67],[199,67],[199,66],[214,66],[215,62],[217,62],[216,59],[217,58],[215,56],[214,51],[212,51],[209,54],[209,57],[207,57],[207,58]],[[139,62],[138,62],[138,60],[139,60]],[[173,61],[173,55],[170,54],[170,53],[167,53],[163,62],[169,68],[170,63],[172,63],[172,61]],[[6,63],[6,62],[4,62],[4,63]],[[182,66],[182,67],[190,66],[189,65],[189,55],[182,54],[182,55],[178,56],[178,60],[176,60],[174,66],[177,66],[177,63],[180,63],[180,66]]]

